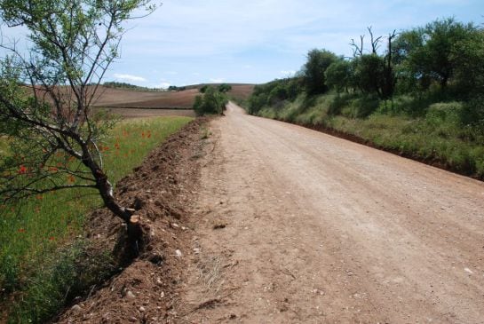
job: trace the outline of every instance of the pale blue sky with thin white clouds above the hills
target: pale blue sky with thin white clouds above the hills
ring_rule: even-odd
[[[481,24],[483,15],[482,0],[163,0],[129,23],[105,80],[265,83],[294,74],[313,48],[351,55],[348,43],[367,26],[379,36],[449,16]]]

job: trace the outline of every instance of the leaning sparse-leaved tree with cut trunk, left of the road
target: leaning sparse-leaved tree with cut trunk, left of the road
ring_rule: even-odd
[[[2,38],[0,136],[12,154],[0,161],[4,200],[94,188],[117,217],[131,209],[113,194],[99,140],[111,122],[91,114],[99,83],[118,56],[123,22],[155,10],[149,0],[3,0],[9,28],[28,30],[28,51]]]

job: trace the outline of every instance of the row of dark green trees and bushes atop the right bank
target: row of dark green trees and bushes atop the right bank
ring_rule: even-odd
[[[258,85],[250,98],[249,112],[257,114],[263,107],[281,105],[300,93],[359,94],[389,106],[396,96],[432,95],[440,101],[469,103],[468,122],[484,123],[482,27],[447,18],[386,36],[375,36],[372,28],[367,29],[367,35],[351,40],[352,57],[313,49],[295,77]]]

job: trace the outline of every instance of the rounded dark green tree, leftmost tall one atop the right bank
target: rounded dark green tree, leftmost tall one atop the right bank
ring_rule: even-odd
[[[337,56],[331,51],[314,49],[307,53],[307,61],[303,71],[305,91],[308,94],[320,94],[328,90],[324,73],[335,61],[337,61]]]

